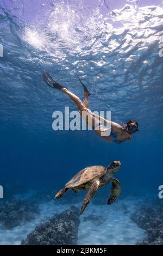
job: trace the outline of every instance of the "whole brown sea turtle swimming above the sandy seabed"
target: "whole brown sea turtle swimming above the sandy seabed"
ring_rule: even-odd
[[[77,173],[70,181],[68,181],[62,190],[60,190],[55,198],[60,198],[69,188],[73,192],[78,193],[79,190],[89,190],[87,193],[80,214],[85,210],[86,205],[90,203],[90,200],[95,195],[99,187],[107,185],[112,182],[111,193],[108,199],[108,204],[112,204],[120,196],[121,184],[115,178],[112,178],[118,170],[120,169],[121,162],[114,161],[109,164],[108,167],[103,166],[91,166],[81,170]]]

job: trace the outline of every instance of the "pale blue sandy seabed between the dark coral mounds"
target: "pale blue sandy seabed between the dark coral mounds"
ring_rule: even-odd
[[[80,208],[81,204],[82,202],[75,205]],[[122,204],[127,205],[127,213],[121,209]],[[130,220],[130,214],[135,210],[135,205],[134,199],[125,199],[111,206],[93,204],[87,206],[84,214],[80,216],[78,245],[135,245],[145,236],[145,231]],[[21,241],[26,239],[36,225],[56,213],[69,209],[70,205],[55,204],[53,200],[40,204],[39,207],[41,214],[35,220],[11,230],[0,227],[0,245],[21,245]],[[105,220],[99,225],[95,225],[92,221],[84,221],[84,217],[90,214],[103,216]]]

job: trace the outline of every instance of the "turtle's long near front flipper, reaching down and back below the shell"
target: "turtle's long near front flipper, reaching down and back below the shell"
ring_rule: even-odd
[[[99,187],[99,180],[98,179],[95,179],[92,183],[92,186],[89,190],[89,192],[87,193],[85,199],[84,199],[84,202],[83,202],[83,205],[82,205],[82,208],[80,210],[80,214],[83,213],[83,211],[85,210],[86,208],[86,205],[90,203],[90,200],[92,199],[92,197],[95,195],[96,191],[98,190],[98,187]]]

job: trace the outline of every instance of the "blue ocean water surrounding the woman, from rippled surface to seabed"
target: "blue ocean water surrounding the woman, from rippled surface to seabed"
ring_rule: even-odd
[[[100,6],[82,1],[32,4],[0,0],[0,185],[61,188],[87,166],[120,160],[115,177],[122,197],[157,197],[163,183],[162,7],[126,2],[103,15]],[[137,120],[140,131],[121,144],[92,131],[54,131],[52,113],[77,108],[43,82],[43,70],[83,99],[77,72],[91,92],[92,111],[111,111],[120,124]]]

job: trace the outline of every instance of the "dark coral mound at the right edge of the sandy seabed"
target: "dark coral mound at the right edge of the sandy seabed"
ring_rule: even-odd
[[[146,237],[137,245],[163,245],[163,205],[156,200],[142,204],[130,215],[140,228],[146,230]]]

